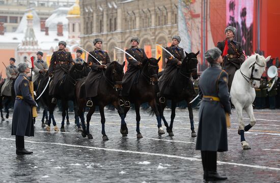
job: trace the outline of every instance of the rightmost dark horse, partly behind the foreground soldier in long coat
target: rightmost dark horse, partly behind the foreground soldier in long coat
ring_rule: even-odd
[[[169,133],[169,136],[174,136],[172,128],[173,128],[173,122],[175,119],[175,109],[178,102],[182,100],[186,100],[188,105],[188,112],[189,112],[189,119],[190,119],[190,129],[191,129],[191,136],[195,137],[197,134],[194,131],[194,125],[193,125],[193,113],[192,113],[192,104],[189,103],[193,99],[193,84],[191,81],[191,77],[193,79],[198,78],[198,59],[197,56],[199,54],[199,51],[197,53],[186,53],[186,57],[184,58],[181,67],[177,68],[176,72],[176,80],[173,85],[172,89],[172,95],[170,96],[164,96],[164,99],[161,99],[161,102],[158,101],[159,104],[159,113],[160,117],[163,120],[165,126],[166,126],[166,120],[163,115],[164,108],[166,106],[167,99],[171,100],[171,122],[169,127],[166,128],[166,131]],[[160,80],[159,80],[160,82]],[[161,97],[161,96],[160,96]]]

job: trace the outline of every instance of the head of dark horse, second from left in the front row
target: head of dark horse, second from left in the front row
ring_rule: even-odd
[[[124,65],[125,62],[123,63],[123,65],[121,65],[117,61],[113,61],[106,68],[106,72],[109,73],[110,80],[113,82],[114,87],[117,90],[122,89],[122,80],[124,77],[124,71],[123,71]]]

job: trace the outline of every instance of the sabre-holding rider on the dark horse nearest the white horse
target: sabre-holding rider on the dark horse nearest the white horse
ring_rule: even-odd
[[[164,51],[165,63],[166,66],[163,70],[163,74],[159,79],[159,101],[164,103],[164,96],[172,95],[172,87],[176,80],[176,72],[177,68],[182,64],[183,59],[185,58],[183,48],[180,48],[178,45],[181,42],[181,38],[179,35],[174,35],[172,37],[172,44],[170,47],[165,47],[167,51],[169,51],[174,57],[172,57],[169,53]]]

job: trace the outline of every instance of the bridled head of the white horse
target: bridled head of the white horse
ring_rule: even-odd
[[[265,71],[266,62],[269,61],[269,59],[270,59],[270,56],[265,58],[264,56],[256,53],[254,55],[251,55],[249,58],[247,58],[245,60],[246,63],[249,63],[249,65],[248,65],[249,74],[250,74],[249,79],[251,81],[250,84],[251,84],[252,88],[260,87],[261,76],[263,75],[263,72]],[[244,64],[244,66],[246,66],[246,64]],[[244,70],[244,68],[242,68],[242,71],[243,70]]]

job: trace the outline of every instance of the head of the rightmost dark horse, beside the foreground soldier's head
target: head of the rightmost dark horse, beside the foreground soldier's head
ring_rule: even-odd
[[[184,69],[184,72],[186,73],[190,73],[190,76],[196,80],[198,79],[198,54],[200,51],[198,51],[197,53],[187,53],[186,57],[184,58],[183,62],[182,62],[182,66],[181,68]]]

